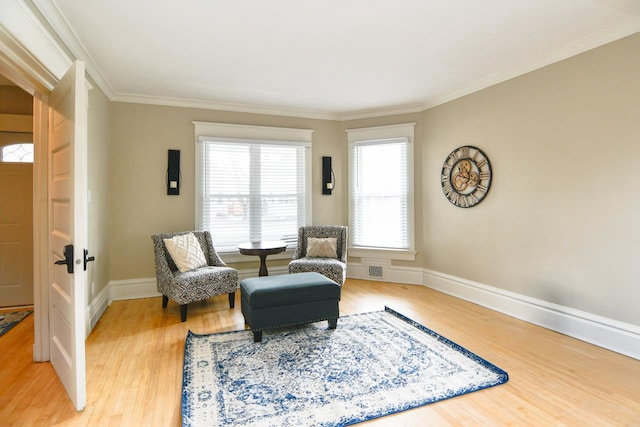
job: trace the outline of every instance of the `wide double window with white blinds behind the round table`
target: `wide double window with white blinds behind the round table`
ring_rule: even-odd
[[[220,252],[260,240],[295,246],[298,227],[311,223],[311,133],[289,141],[286,131],[196,123],[196,225]]]

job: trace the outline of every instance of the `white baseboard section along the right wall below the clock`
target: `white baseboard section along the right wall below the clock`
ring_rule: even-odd
[[[534,325],[640,359],[640,326],[427,269],[423,283]]]

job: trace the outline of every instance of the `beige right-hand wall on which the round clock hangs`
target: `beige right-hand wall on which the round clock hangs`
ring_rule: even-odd
[[[425,111],[425,268],[640,325],[640,34]],[[476,145],[486,199],[451,205],[447,154]]]

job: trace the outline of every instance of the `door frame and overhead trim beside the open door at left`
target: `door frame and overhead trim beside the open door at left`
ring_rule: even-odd
[[[0,3],[0,73],[33,96],[33,359],[50,358],[48,94],[73,59],[22,1]]]

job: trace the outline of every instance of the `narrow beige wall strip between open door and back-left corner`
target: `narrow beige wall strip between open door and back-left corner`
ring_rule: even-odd
[[[91,301],[109,283],[109,151],[111,143],[111,103],[97,89],[89,91],[87,111],[87,186],[91,194],[88,205],[89,263],[88,300]],[[93,283],[93,286],[92,286]]]

